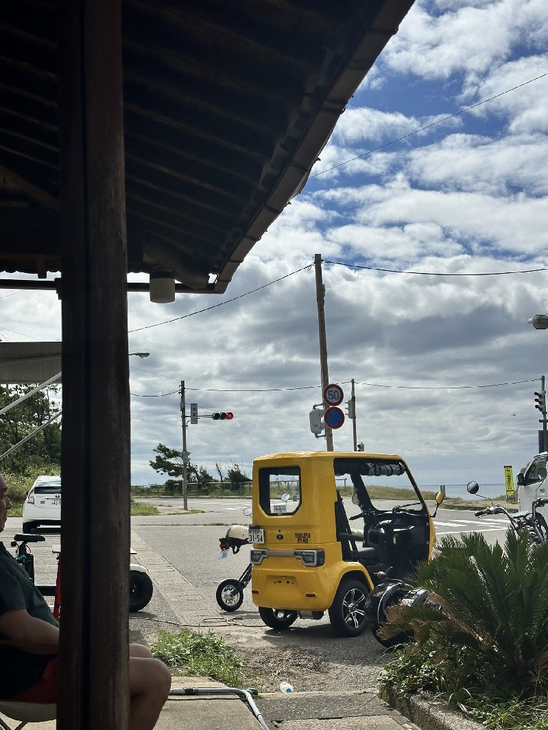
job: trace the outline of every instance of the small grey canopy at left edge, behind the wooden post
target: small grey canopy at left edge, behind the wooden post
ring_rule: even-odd
[[[0,383],[45,383],[59,372],[61,342],[0,342]]]

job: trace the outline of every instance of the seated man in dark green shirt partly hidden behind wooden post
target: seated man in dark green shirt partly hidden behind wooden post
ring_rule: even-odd
[[[0,475],[0,532],[11,506]],[[0,699],[57,702],[57,621],[1,542],[0,639]],[[152,730],[169,694],[171,674],[147,647],[130,644],[129,655],[130,730]]]

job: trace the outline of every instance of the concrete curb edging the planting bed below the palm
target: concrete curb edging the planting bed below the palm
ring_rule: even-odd
[[[455,705],[423,699],[418,694],[401,694],[393,688],[385,699],[395,710],[405,715],[422,730],[485,730],[485,726],[467,718]]]

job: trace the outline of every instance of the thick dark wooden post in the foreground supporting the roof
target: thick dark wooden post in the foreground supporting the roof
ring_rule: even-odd
[[[129,371],[120,0],[61,0],[59,730],[129,721]]]

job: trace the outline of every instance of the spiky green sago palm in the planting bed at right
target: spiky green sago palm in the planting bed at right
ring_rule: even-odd
[[[413,583],[427,588],[442,610],[394,606],[383,638],[411,633],[434,663],[460,654],[476,683],[496,680],[525,695],[548,690],[548,543],[528,548],[527,536],[512,530],[503,548],[480,533],[447,536]],[[460,661],[459,683],[467,681],[462,669]]]

